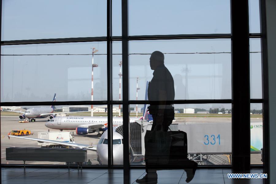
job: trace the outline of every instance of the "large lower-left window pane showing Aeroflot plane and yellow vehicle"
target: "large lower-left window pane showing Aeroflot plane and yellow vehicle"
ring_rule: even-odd
[[[90,105],[59,105],[59,106],[2,106],[1,111],[1,163],[22,164],[23,161],[6,160],[6,148],[67,148],[67,145],[37,142],[33,140],[18,139],[8,134],[22,137],[46,139],[53,141],[74,141],[75,144],[84,144],[94,148],[87,150],[85,165],[98,165],[99,151],[96,150],[98,141],[105,131],[107,123],[107,105],[94,105],[91,117]],[[16,112],[6,111],[13,110]],[[85,111],[85,112],[84,112]],[[88,111],[88,112],[87,112]],[[20,113],[21,112],[21,113]],[[37,113],[39,112],[39,113]],[[41,115],[48,113],[46,115]],[[56,113],[56,114],[51,114]],[[102,127],[99,125],[103,125]],[[88,126],[89,128],[87,128]],[[23,132],[23,133],[22,133]],[[99,135],[98,135],[99,134]],[[101,137],[102,138],[102,137]],[[101,140],[102,141],[102,140]],[[83,147],[83,145],[80,145]],[[97,154],[98,151],[98,154]],[[107,151],[103,151],[107,154]],[[89,161],[90,160],[90,161]],[[67,161],[26,161],[27,164],[67,164]],[[70,161],[70,164],[76,164]]]

